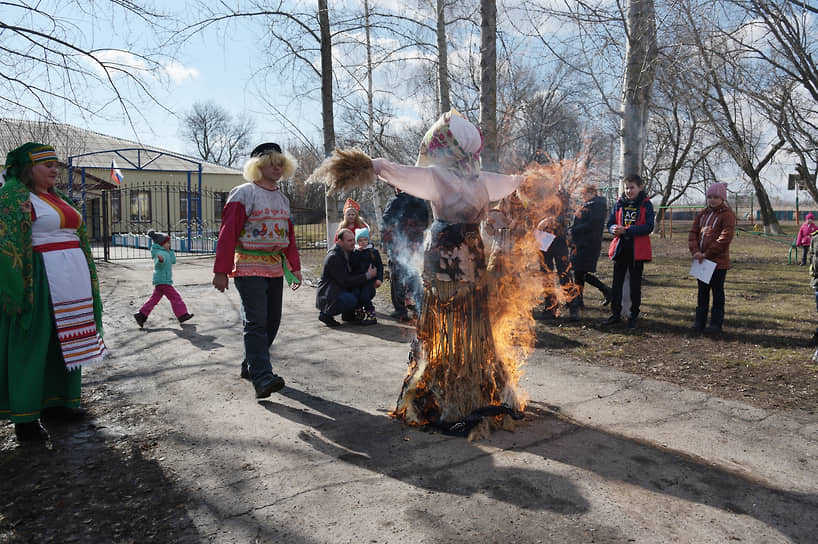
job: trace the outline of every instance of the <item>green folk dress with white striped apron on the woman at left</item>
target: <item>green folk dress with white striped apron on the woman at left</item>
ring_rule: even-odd
[[[50,205],[31,195],[17,179],[0,188],[0,419],[14,423],[35,421],[43,408],[79,406],[80,367],[107,354],[101,339],[102,304],[96,268],[81,217],[64,195],[46,196]],[[48,213],[35,212],[35,222],[32,210],[37,205]],[[66,217],[72,214],[76,218],[66,229]],[[46,215],[50,215],[49,220]],[[51,241],[48,228],[45,235],[40,232],[40,225],[48,221],[55,231],[62,231],[63,238],[69,230],[75,240],[73,247],[79,247],[70,250],[74,251],[74,266],[54,267],[58,271],[55,277],[59,276],[64,285],[87,286],[79,308],[61,302],[78,298],[73,293],[67,297],[65,292],[52,293],[42,251],[53,248],[38,246],[34,250],[34,238],[39,237],[37,243],[43,236],[46,242]],[[76,252],[80,252],[78,258]],[[81,275],[87,279],[79,281]],[[58,317],[55,305],[60,310]],[[66,316],[73,323],[66,323]]]

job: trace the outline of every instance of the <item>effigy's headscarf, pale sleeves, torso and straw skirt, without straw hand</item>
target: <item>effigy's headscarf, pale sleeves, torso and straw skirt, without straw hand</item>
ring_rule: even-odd
[[[424,136],[416,166],[372,161],[382,180],[428,200],[434,217],[417,341],[395,409],[408,423],[455,422],[481,408],[522,404],[516,378],[495,351],[480,222],[489,202],[524,178],[482,172],[482,147],[478,128],[451,110]]]

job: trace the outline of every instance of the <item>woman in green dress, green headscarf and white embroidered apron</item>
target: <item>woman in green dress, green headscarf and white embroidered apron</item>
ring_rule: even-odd
[[[107,354],[85,225],[58,173],[53,147],[27,143],[0,188],[0,418],[20,441],[48,438],[41,416],[81,417],[80,367]]]

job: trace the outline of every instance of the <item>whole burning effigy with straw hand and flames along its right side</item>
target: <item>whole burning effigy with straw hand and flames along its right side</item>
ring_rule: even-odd
[[[371,183],[377,175],[386,183],[431,204],[434,222],[427,231],[423,262],[423,306],[411,343],[409,369],[392,415],[411,425],[431,425],[469,439],[491,428],[512,428],[522,418],[527,394],[520,387],[520,366],[533,346],[531,308],[542,295],[536,267],[507,285],[525,285],[523,304],[502,300],[493,291],[497,278],[488,273],[480,223],[489,203],[512,194],[524,175],[481,170],[480,131],[454,110],[444,113],[426,132],[415,166],[385,159],[368,162],[355,150],[339,150],[313,173],[332,189]],[[540,190],[540,188],[538,188]],[[530,195],[537,191],[529,189]],[[532,196],[525,196],[531,202]],[[534,212],[537,206],[530,205]],[[515,245],[533,252],[533,238]],[[522,255],[522,253],[521,253]],[[515,260],[514,257],[509,260]],[[520,289],[515,289],[519,296]],[[505,293],[505,296],[511,296]],[[528,305],[526,310],[524,306]],[[502,340],[497,341],[496,331]]]

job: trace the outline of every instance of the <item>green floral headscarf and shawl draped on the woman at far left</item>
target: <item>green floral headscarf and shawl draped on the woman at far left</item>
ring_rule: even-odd
[[[52,146],[34,142],[23,144],[6,156],[6,183],[0,187],[0,308],[16,317],[17,325],[23,330],[31,327],[34,250],[31,244],[31,191],[20,180],[20,174],[26,166],[56,160],[57,154]],[[55,189],[55,192],[74,205],[60,191]],[[85,223],[77,229],[77,235],[91,273],[94,319],[102,335],[102,300]]]

